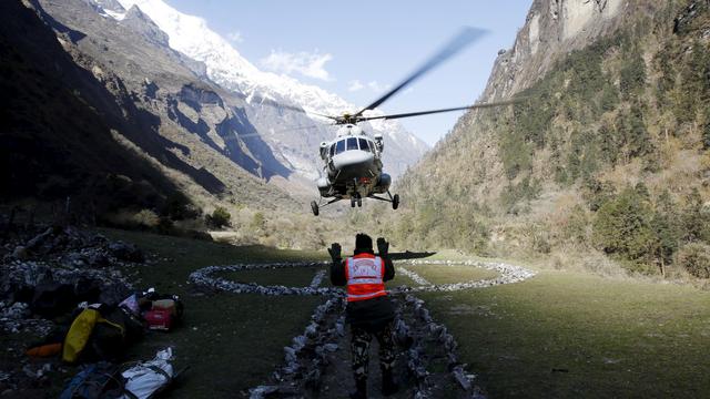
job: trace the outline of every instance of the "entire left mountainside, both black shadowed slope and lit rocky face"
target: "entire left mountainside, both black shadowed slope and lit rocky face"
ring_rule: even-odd
[[[241,100],[161,47],[140,10],[120,25],[84,1],[26,6],[3,3],[3,197],[70,196],[99,218],[295,209],[264,181],[290,171],[257,135],[237,135],[250,129]]]

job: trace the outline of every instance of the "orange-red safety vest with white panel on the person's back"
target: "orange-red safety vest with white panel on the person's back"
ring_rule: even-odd
[[[385,263],[372,254],[359,254],[345,259],[347,301],[366,300],[387,295],[385,291]]]

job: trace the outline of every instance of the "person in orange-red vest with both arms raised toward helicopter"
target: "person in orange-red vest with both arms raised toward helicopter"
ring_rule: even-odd
[[[373,250],[373,239],[366,234],[355,236],[355,252],[352,257],[341,258],[341,245],[328,248],[333,258],[331,283],[345,286],[347,291],[346,323],[351,325],[351,351],[356,391],[351,398],[367,397],[367,365],[369,342],[373,336],[379,342],[379,368],[382,369],[382,392],[385,396],[398,390],[394,380],[395,341],[392,334],[395,307],[385,282],[395,277],[395,267],[387,256],[389,243],[377,238],[377,250]]]

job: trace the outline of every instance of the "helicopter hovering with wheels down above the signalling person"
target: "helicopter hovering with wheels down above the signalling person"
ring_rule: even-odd
[[[515,102],[479,103],[467,106],[392,115],[365,115],[367,111],[375,110],[390,96],[458,53],[468,44],[481,38],[485,33],[486,31],[476,28],[463,29],[444,45],[442,50],[430,57],[422,66],[415,70],[414,73],[402,81],[402,83],[356,113],[345,113],[333,116],[310,112],[314,115],[329,119],[334,122],[333,125],[341,126],[333,141],[321,143],[320,155],[325,165],[323,166],[321,177],[316,181],[321,198],[318,202],[311,202],[311,209],[315,216],[318,216],[321,207],[343,200],[349,200],[352,207],[362,207],[363,198],[389,202],[392,203],[393,209],[397,209],[399,206],[399,195],[393,195],[389,192],[392,176],[383,172],[382,154],[384,151],[384,139],[382,134],[378,133],[371,137],[363,127],[358,126],[359,123],[373,120],[394,120],[444,112],[501,106]],[[385,194],[386,196],[383,196]]]

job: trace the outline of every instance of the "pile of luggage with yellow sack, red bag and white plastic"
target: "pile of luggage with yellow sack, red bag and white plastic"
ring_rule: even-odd
[[[170,331],[181,323],[183,313],[176,295],[159,295],[153,288],[132,294],[118,306],[82,303],[68,329],[55,330],[27,354],[61,356],[67,364],[87,365],[61,398],[149,398],[175,377],[170,364],[172,350],[162,350],[153,360],[131,368],[116,365],[146,330]]]

